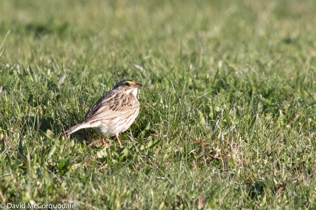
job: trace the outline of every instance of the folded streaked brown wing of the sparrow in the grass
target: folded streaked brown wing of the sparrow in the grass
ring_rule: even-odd
[[[85,121],[91,122],[128,114],[134,111],[135,99],[121,93],[108,92],[88,110]]]

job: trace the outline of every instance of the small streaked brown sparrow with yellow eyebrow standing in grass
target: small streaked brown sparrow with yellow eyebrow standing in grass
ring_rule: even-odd
[[[88,109],[85,120],[66,130],[64,135],[69,136],[82,128],[93,128],[105,136],[115,136],[122,147],[119,134],[126,131],[138,116],[137,91],[141,86],[143,85],[130,79],[116,83]]]

